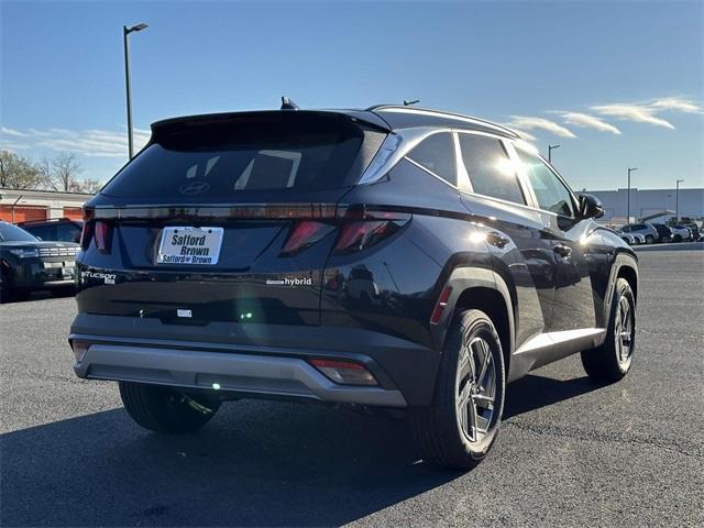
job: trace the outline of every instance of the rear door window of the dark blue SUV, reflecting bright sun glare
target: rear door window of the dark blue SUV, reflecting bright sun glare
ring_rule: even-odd
[[[460,133],[460,148],[474,193],[526,204],[516,168],[501,141],[485,135]]]

